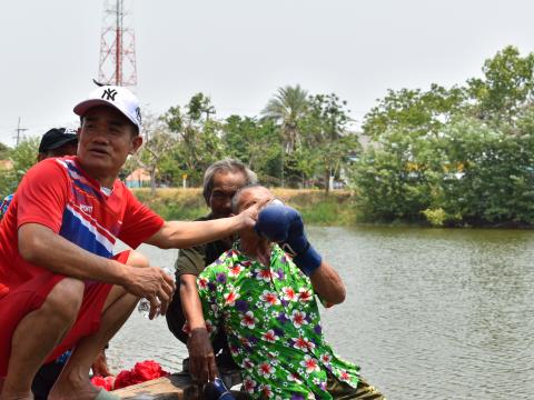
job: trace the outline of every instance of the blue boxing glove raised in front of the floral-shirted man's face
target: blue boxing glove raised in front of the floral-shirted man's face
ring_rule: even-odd
[[[288,206],[273,204],[261,210],[255,226],[259,236],[283,243],[293,253],[295,264],[308,277],[322,262],[320,254],[309,244],[300,213]]]

